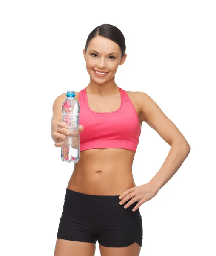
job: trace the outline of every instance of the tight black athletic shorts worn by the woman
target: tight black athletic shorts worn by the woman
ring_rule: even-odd
[[[57,238],[126,247],[142,246],[142,217],[139,209],[120,205],[119,195],[88,195],[66,189]]]

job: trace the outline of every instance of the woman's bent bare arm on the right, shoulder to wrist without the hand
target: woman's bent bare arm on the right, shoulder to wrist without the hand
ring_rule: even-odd
[[[168,119],[156,102],[146,93],[139,92],[142,121],[150,125],[171,146],[171,149],[150,184],[159,190],[178,171],[190,152],[190,145],[176,125]]]

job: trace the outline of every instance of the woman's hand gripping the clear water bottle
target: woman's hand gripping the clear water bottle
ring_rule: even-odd
[[[79,125],[79,132],[82,132],[84,127],[82,125]],[[57,122],[57,130],[53,132],[52,137],[55,138],[56,143],[54,144],[56,147],[61,147],[64,142],[62,140],[65,139],[65,137],[69,134],[67,134],[68,131],[68,125],[66,125],[64,122]]]

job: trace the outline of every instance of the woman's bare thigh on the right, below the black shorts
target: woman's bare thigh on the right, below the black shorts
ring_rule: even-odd
[[[141,246],[136,242],[127,247],[105,247],[99,244],[101,256],[139,256]]]

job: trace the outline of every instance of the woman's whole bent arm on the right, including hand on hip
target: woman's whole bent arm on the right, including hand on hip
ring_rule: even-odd
[[[120,195],[122,198],[119,197],[119,199],[122,199],[122,204],[133,198],[125,205],[125,208],[140,200],[134,210],[157,194],[159,189],[178,171],[190,152],[190,145],[183,134],[168,119],[156,102],[146,93],[136,92],[136,94],[136,99],[142,106],[142,121],[151,126],[171,146],[171,149],[159,171],[147,184],[128,189]]]

